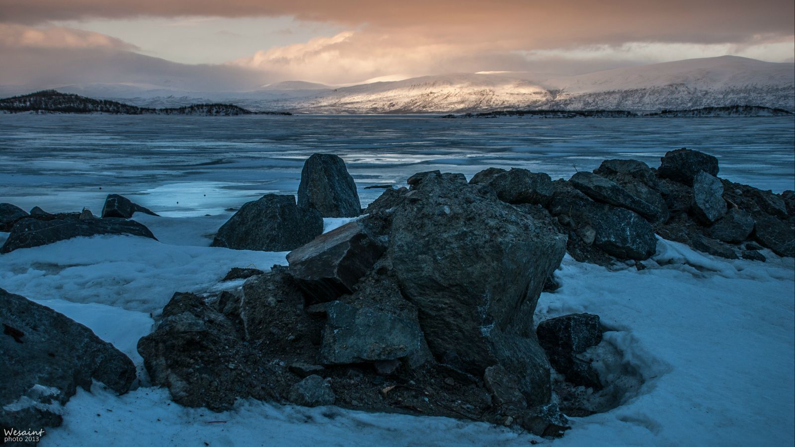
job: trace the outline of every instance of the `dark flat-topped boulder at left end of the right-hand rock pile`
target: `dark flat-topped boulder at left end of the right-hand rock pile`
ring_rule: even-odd
[[[511,168],[510,171],[489,168],[469,181],[472,185],[487,185],[497,192],[499,200],[509,204],[549,203],[552,197],[552,179],[546,173],[531,173],[527,169]]]

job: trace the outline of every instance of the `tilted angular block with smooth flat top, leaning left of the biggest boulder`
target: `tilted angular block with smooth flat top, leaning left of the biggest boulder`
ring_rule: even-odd
[[[363,223],[350,222],[291,251],[287,262],[310,301],[332,301],[351,293],[384,250]]]

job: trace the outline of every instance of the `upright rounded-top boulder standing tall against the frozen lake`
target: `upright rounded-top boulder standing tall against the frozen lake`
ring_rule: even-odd
[[[355,217],[362,211],[359,193],[345,161],[333,154],[312,154],[301,169],[298,204],[323,217]]]

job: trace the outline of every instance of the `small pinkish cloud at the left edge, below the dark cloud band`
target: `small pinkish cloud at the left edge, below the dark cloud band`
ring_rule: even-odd
[[[138,49],[115,37],[64,27],[34,28],[0,23],[0,47],[37,49]]]

